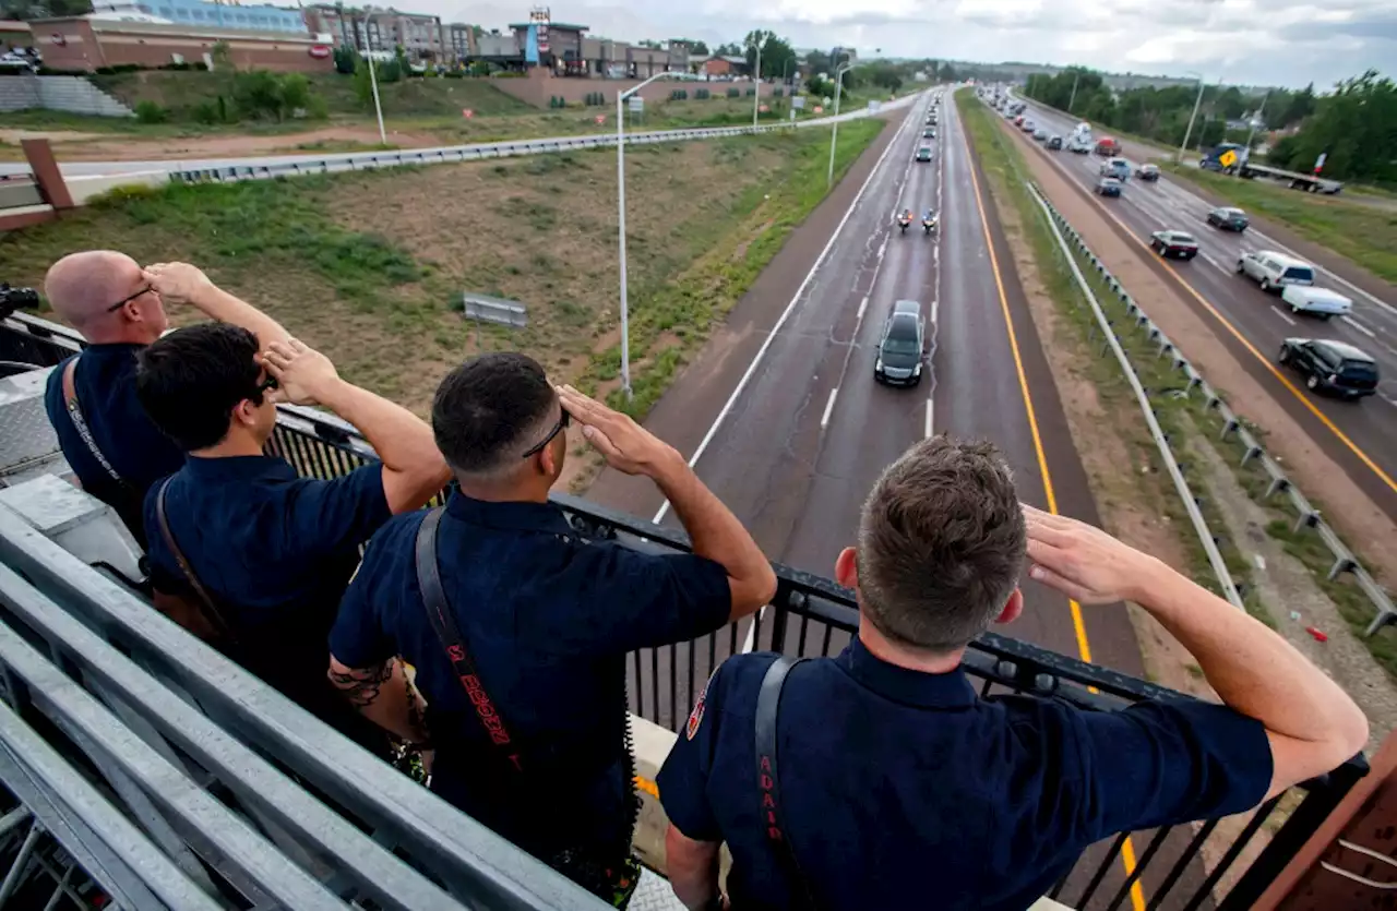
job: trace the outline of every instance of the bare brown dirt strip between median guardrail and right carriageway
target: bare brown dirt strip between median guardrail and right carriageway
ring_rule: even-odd
[[[1003,129],[1003,127],[1000,127]],[[1016,143],[1024,143],[1014,138]],[[1266,446],[1306,496],[1323,502],[1326,518],[1350,541],[1363,542],[1363,556],[1375,574],[1397,578],[1397,524],[1355,485],[1343,468],[1301,428],[1227,349],[1213,327],[1168,286],[1113,228],[1081,197],[1056,168],[1027,144],[1021,145],[1034,180],[1076,228],[1092,252],[1116,275],[1140,307],[1217,390],[1225,390],[1232,409],[1264,428]]]

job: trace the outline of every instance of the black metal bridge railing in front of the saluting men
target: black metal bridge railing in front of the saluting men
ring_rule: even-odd
[[[52,324],[49,327],[57,328]],[[61,334],[61,340],[36,340],[28,334],[21,341],[43,363],[54,363],[74,344],[71,334]],[[6,356],[3,335],[6,334],[0,333],[0,359]],[[306,408],[282,407],[268,450],[285,457],[300,474],[321,478],[342,474],[374,458],[369,444],[346,423]],[[676,530],[571,496],[555,495],[553,502],[585,537],[610,538],[641,549],[689,548],[685,535]],[[800,657],[837,654],[858,629],[852,592],[828,578],[785,566],[777,566],[777,595],[767,611],[756,618],[678,646],[633,653],[627,659],[631,711],[669,729],[678,729],[697,689],[724,658],[740,650],[749,634],[759,650]],[[147,618],[148,622],[158,619]],[[1141,699],[1161,696],[1186,699],[1154,683],[993,633],[971,646],[965,655],[965,669],[978,682],[982,694],[1027,693],[1097,711],[1113,711]],[[210,686],[210,682],[204,686]],[[247,720],[231,720],[229,724],[246,725]],[[293,755],[313,749],[295,736],[277,746],[288,748]],[[1122,863],[1125,854],[1134,857],[1133,850],[1127,848],[1127,836],[1094,845],[1055,886],[1049,897],[1094,911],[1122,907],[1127,897],[1140,894],[1151,911],[1194,911],[1204,907],[1245,911],[1366,768],[1362,756],[1358,756],[1327,775],[1267,801],[1235,836],[1224,834],[1229,827],[1220,826],[1220,820],[1134,833],[1134,840],[1144,844],[1144,850],[1129,869]],[[394,795],[408,788],[405,778],[401,782],[390,778],[395,777],[380,775],[379,785]],[[1268,838],[1259,834],[1263,830]],[[1243,854],[1253,859],[1241,862]],[[1220,884],[1224,882],[1232,883],[1231,887]],[[1214,894],[1215,891],[1225,894]]]

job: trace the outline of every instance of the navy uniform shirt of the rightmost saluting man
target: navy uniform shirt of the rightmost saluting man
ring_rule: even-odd
[[[754,714],[774,655],[729,658],[659,773],[671,822],[732,851],[732,907],[785,908],[767,843]],[[855,640],[787,678],[777,721],[784,831],[823,908],[1023,911],[1087,845],[1238,813],[1271,784],[1261,724],[1203,701],[1094,713],[979,699]]]

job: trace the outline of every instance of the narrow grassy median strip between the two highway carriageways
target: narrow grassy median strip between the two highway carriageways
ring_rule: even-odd
[[[958,96],[957,103],[964,113],[967,129],[975,140],[981,162],[986,173],[989,173],[992,191],[999,198],[1010,200],[1018,210],[1020,221],[1025,226],[1025,233],[1032,245],[1044,284],[1065,321],[1074,328],[1077,342],[1073,356],[1074,362],[1080,363],[1083,372],[1091,377],[1098,390],[1102,408],[1108,409],[1108,414],[1119,416],[1119,421],[1112,421],[1112,426],[1118,428],[1118,432],[1130,442],[1132,454],[1134,456],[1132,464],[1148,464],[1151,467],[1148,474],[1130,472],[1129,478],[1123,478],[1122,490],[1139,488],[1140,493],[1147,497],[1146,503],[1153,500],[1161,504],[1164,514],[1169,517],[1175,527],[1186,528],[1187,520],[1178,503],[1178,496],[1173,493],[1172,485],[1162,474],[1154,442],[1148,436],[1144,421],[1140,418],[1133,393],[1122,383],[1120,370],[1115,359],[1109,355],[1105,358],[1101,356],[1102,338],[1099,331],[1095,330],[1095,317],[1091,314],[1071,278],[1062,250],[1052,238],[1046,217],[1044,217],[1038,204],[1024,187],[1024,175],[1028,172],[1018,150],[996,127],[992,115],[983,105],[974,98],[964,96]],[[1242,450],[1235,436],[1229,437],[1232,440],[1229,444],[1214,443],[1218,439],[1221,425],[1213,412],[1201,411],[1196,395],[1180,398],[1171,394],[1171,391],[1180,390],[1185,386],[1182,374],[1173,370],[1168,360],[1155,356],[1154,345],[1148,344],[1144,335],[1133,328],[1133,319],[1126,313],[1125,306],[1105,285],[1095,270],[1090,268],[1090,264],[1080,257],[1077,265],[1087,275],[1087,281],[1092,286],[1097,299],[1102,303],[1108,319],[1115,326],[1125,327],[1120,331],[1119,341],[1136,365],[1141,384],[1155,393],[1151,397],[1151,404],[1160,425],[1173,442],[1175,451],[1182,451],[1185,446],[1190,444],[1214,447],[1222,456],[1236,482],[1246,490],[1248,496],[1268,514],[1267,534],[1280,541],[1288,553],[1298,557],[1310,570],[1316,584],[1334,602],[1350,629],[1361,634],[1373,619],[1372,604],[1362,590],[1348,576],[1340,576],[1334,581],[1326,578],[1333,557],[1319,537],[1313,532],[1294,534],[1291,531],[1296,516],[1285,497],[1264,499],[1270,478],[1260,468],[1259,461],[1249,461],[1245,467],[1238,464]],[[1222,390],[1218,391],[1224,394]],[[1256,436],[1264,436],[1264,432],[1259,428],[1253,426],[1250,429]],[[1095,479],[1092,479],[1092,483],[1095,488]],[[1214,532],[1224,528],[1211,503],[1214,497],[1201,485],[1200,478],[1196,474],[1190,474],[1189,483],[1194,488],[1196,493],[1203,496],[1201,509],[1208,527]],[[1098,493],[1098,502],[1099,499],[1101,495]],[[1315,500],[1312,503],[1316,509],[1324,511],[1322,503],[1316,503]],[[1213,578],[1211,567],[1204,559],[1201,545],[1192,534],[1182,534],[1180,542],[1189,548],[1193,578],[1201,584],[1214,587],[1215,580]],[[1234,542],[1224,538],[1220,546],[1234,580],[1245,584],[1250,566],[1243,560]],[[1249,611],[1271,626],[1275,625],[1271,611],[1282,608],[1282,605],[1260,605],[1256,602],[1255,595],[1249,595],[1246,604]],[[1397,679],[1397,632],[1389,627],[1372,639],[1363,639],[1362,636],[1359,639],[1389,675]]]

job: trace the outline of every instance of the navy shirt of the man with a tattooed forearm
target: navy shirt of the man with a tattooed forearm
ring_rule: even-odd
[[[436,743],[432,788],[549,859],[630,845],[626,654],[728,622],[726,571],[700,556],[585,541],[546,503],[453,493],[437,532],[441,587],[481,680],[520,748],[507,766],[465,699],[416,581],[425,511],[374,535],[330,637],[351,668],[393,655],[416,668]],[[624,855],[622,855],[624,857]]]

